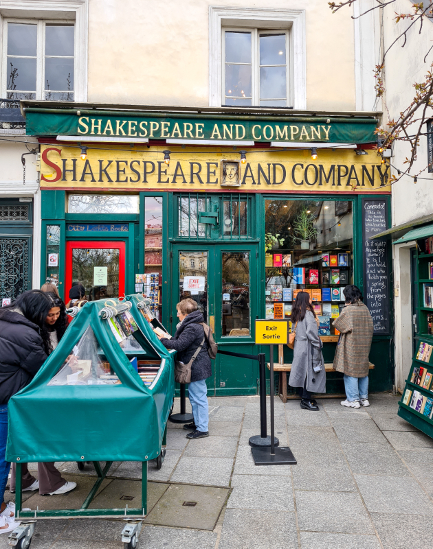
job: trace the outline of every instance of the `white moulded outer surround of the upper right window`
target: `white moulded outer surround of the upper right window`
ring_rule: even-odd
[[[287,30],[289,57],[287,78],[289,105],[296,110],[307,109],[305,10],[278,10],[274,8],[209,8],[209,105],[221,107],[223,97],[223,30],[261,31]]]

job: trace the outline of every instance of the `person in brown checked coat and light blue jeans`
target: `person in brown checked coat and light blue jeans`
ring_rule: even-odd
[[[368,369],[373,318],[362,303],[362,293],[353,284],[343,290],[346,304],[342,313],[335,318],[333,327],[340,331],[333,369],[344,373],[346,400],[342,406],[360,408],[370,406],[368,402]]]

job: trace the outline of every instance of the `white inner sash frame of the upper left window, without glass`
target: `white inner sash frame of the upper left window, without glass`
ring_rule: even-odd
[[[32,92],[25,90],[23,92],[16,91],[16,93],[35,93],[36,100],[45,100],[45,58],[71,58],[71,56],[47,56],[45,55],[45,29],[47,25],[69,25],[74,27],[74,54],[75,54],[75,24],[74,21],[68,21],[67,19],[15,19],[15,18],[5,18],[3,19],[3,59],[2,59],[2,75],[1,82],[3,84],[1,93],[2,97],[8,97],[8,93],[12,90],[8,90],[8,24],[9,23],[20,23],[23,25],[34,25],[36,27],[36,91]],[[12,56],[25,58],[26,56]],[[31,56],[33,57],[33,56]],[[27,57],[28,58],[28,57]],[[74,56],[74,88],[75,88],[75,56]],[[50,90],[53,93],[68,93],[65,90]],[[13,93],[13,91],[12,91]],[[75,89],[71,90],[75,97]]]

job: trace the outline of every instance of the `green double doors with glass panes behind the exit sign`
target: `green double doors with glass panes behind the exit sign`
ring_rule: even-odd
[[[174,245],[173,273],[179,274],[173,277],[173,318],[176,303],[190,297],[197,301],[219,349],[254,353],[256,249],[256,244],[246,243]],[[256,363],[219,354],[207,383],[208,395],[255,395]]]

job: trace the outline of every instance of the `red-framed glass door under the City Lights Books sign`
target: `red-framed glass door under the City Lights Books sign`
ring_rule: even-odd
[[[85,299],[117,299],[125,292],[125,242],[66,243],[65,303],[73,282],[85,287]]]

